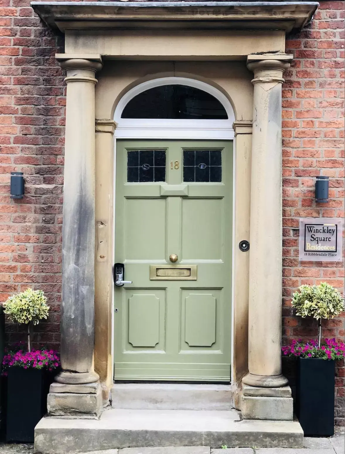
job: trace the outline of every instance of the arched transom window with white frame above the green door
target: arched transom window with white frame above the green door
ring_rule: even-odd
[[[114,114],[115,138],[232,139],[234,113],[227,97],[204,82],[153,79],[130,89]]]

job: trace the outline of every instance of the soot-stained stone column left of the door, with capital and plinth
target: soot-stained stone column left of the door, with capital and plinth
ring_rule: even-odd
[[[62,239],[61,366],[48,397],[49,415],[98,417],[94,372],[95,73],[99,55],[57,54],[66,70]]]

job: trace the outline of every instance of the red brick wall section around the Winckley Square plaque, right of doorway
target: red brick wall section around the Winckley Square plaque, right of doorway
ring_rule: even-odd
[[[292,293],[329,282],[344,292],[343,262],[298,262],[299,217],[344,217],[344,2],[321,1],[314,20],[286,41],[295,59],[283,85],[283,343],[316,338],[317,322],[294,316]],[[315,177],[330,201],[315,203]],[[323,323],[344,340],[344,313]],[[337,364],[335,421],[344,425],[344,361]]]

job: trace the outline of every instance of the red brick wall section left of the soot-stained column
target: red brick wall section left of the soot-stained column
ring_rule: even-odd
[[[29,3],[0,0],[0,302],[28,286],[44,290],[50,316],[34,342],[58,348],[64,84],[54,59],[60,38]],[[14,170],[25,175],[17,201],[9,197]],[[10,342],[24,339],[16,325],[7,332]]]

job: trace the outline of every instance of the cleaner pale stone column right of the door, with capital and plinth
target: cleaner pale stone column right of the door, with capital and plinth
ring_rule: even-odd
[[[246,418],[292,419],[290,388],[275,392],[264,390],[286,388],[287,385],[287,379],[281,375],[281,85],[284,82],[283,73],[289,68],[292,58],[293,56],[288,54],[266,54],[248,55],[247,60],[248,69],[254,72],[254,101],[251,149],[249,373],[242,380],[244,385],[249,385],[243,387],[242,412]],[[270,399],[267,399],[267,396]],[[282,397],[284,400],[281,400]],[[278,403],[274,403],[272,398],[279,399]]]

